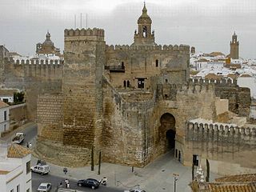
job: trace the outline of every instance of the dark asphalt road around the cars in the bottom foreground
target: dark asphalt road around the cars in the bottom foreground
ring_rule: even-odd
[[[41,175],[41,174],[35,174],[32,173],[32,191],[35,192],[38,189],[38,186],[40,185],[41,182],[50,182],[53,185],[53,188],[51,190],[51,192],[55,192],[58,184],[62,181],[62,183],[64,184],[65,180],[65,176],[63,174],[63,177],[57,177],[51,174],[46,174],[46,175]],[[81,190],[81,191],[95,191],[92,190],[90,188],[86,188],[86,187],[79,187],[77,186],[77,182],[74,180],[70,180],[70,189],[73,190]],[[114,188],[114,187],[110,187],[110,186],[99,186],[97,191],[99,192],[123,192],[123,190]]]

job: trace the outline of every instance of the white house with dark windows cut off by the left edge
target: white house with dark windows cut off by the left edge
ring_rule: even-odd
[[[0,101],[0,136],[2,132],[9,130],[9,105]]]

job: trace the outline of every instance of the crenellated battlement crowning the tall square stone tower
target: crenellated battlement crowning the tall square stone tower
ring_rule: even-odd
[[[84,29],[82,28],[81,30],[79,29],[66,29],[64,30],[64,37],[74,37],[74,36],[99,36],[99,37],[104,37],[104,30],[95,28],[94,29]]]

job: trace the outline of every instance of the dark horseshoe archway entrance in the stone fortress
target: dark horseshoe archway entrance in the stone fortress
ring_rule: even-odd
[[[166,143],[166,151],[172,150],[175,148],[175,134],[176,134],[176,128],[175,123],[176,120],[174,118],[174,115],[166,113],[162,114],[160,118],[160,131],[162,137],[165,137],[165,143]]]

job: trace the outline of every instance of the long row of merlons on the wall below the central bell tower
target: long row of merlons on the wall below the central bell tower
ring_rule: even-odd
[[[190,46],[186,45],[158,45],[158,46],[128,46],[128,45],[106,45],[106,50],[182,50],[190,51]]]

